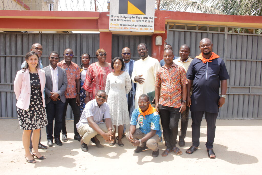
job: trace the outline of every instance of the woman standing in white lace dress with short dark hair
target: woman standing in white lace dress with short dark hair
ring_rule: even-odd
[[[123,59],[120,57],[114,58],[111,62],[111,67],[114,72],[111,72],[107,75],[105,89],[112,124],[115,128],[112,137],[113,142],[109,144],[110,146],[116,144],[116,126],[118,126],[118,133],[123,133],[123,124],[130,123],[126,94],[128,94],[132,88],[129,74],[123,71]],[[120,134],[118,137],[118,145],[124,146],[122,142],[122,135]]]

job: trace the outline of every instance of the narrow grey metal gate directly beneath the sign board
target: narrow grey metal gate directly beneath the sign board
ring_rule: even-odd
[[[140,59],[137,46],[145,43],[148,47],[148,54],[151,56],[151,36],[140,35],[112,35],[112,58],[122,57],[122,49],[129,47],[131,50],[131,59],[137,61]]]

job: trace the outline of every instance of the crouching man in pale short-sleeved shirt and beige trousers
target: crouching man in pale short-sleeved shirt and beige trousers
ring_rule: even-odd
[[[100,134],[106,142],[112,141],[112,121],[109,113],[109,105],[106,101],[106,92],[104,90],[97,91],[95,99],[89,101],[85,105],[85,109],[78,122],[77,130],[82,136],[80,140],[82,151],[88,151],[87,144],[90,140],[97,147],[103,148],[96,135]],[[105,122],[103,122],[105,119]],[[94,138],[93,138],[94,137]]]

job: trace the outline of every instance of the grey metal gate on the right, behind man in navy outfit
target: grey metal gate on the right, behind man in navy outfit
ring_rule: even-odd
[[[250,30],[253,33],[250,33]],[[211,39],[213,51],[225,62],[230,79],[220,119],[262,119],[262,34],[243,27],[167,24],[167,43],[174,55],[182,44],[190,46],[190,57],[200,54],[199,42]],[[246,31],[249,31],[246,33]]]

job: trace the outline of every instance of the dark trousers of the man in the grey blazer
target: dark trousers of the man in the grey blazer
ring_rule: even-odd
[[[51,100],[46,104],[46,115],[47,115],[47,126],[46,126],[46,136],[47,140],[60,139],[60,132],[62,129],[62,118],[65,103],[61,100],[53,101]],[[54,137],[53,137],[53,121],[54,123]]]

